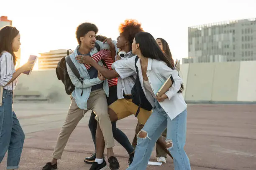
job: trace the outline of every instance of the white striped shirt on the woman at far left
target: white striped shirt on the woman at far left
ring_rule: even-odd
[[[0,56],[0,86],[4,86],[5,90],[14,90],[17,85],[17,80],[8,84],[14,72],[13,56],[9,52],[3,52]]]

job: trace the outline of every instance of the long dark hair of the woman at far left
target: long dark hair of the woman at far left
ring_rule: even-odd
[[[13,39],[19,34],[20,32],[11,26],[5,26],[0,30],[0,53],[3,51],[10,52],[13,56],[13,64],[16,65],[17,57],[13,52]]]

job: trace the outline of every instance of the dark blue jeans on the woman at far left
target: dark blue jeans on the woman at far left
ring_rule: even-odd
[[[24,139],[25,134],[13,111],[13,92],[4,90],[0,106],[0,163],[8,150],[8,170],[18,168]]]

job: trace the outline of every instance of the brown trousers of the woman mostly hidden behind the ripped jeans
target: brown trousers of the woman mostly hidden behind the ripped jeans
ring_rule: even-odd
[[[136,148],[136,145],[137,145],[137,134],[141,131],[141,129],[143,128],[143,124],[141,124],[139,121],[138,121],[138,124],[136,126],[136,129],[135,129],[135,136],[133,138],[133,148],[135,149]],[[167,133],[167,129],[164,130],[164,132],[162,133],[162,136],[164,136],[166,138],[166,133]],[[161,146],[159,146],[157,143],[156,143],[156,157],[167,157],[167,153],[161,148]]]

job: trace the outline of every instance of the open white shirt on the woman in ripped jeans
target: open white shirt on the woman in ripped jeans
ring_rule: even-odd
[[[121,78],[125,78],[136,73],[134,62],[135,56],[127,60],[118,60],[113,63],[112,67],[115,68],[115,71],[118,72]],[[138,67],[138,75],[141,85],[143,85],[140,59],[138,59],[136,65]],[[179,77],[177,70],[172,70],[172,68],[168,67],[165,62],[150,58],[148,58],[148,68],[146,74],[154,94],[156,94],[157,90],[167,80],[167,78],[172,75],[174,83],[172,87],[170,87],[169,90],[165,93],[168,98],[163,102],[159,102],[159,104],[170,117],[170,119],[173,120],[177,115],[179,115],[187,108],[187,104],[183,98],[183,95],[178,93],[182,85],[182,78]],[[144,86],[142,86],[142,89],[146,95],[146,98],[151,103],[152,107],[154,107],[154,97],[152,97],[148,90],[145,90]]]

